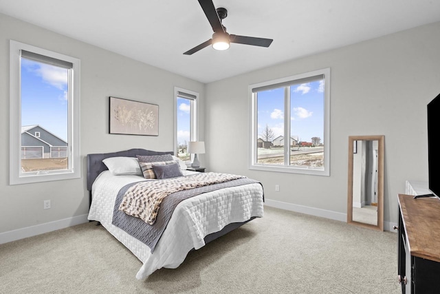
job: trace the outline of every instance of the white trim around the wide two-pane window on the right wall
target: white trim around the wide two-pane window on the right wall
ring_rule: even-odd
[[[318,76],[318,75],[324,75],[325,78],[325,84],[324,84],[324,170],[318,170],[311,167],[298,167],[298,166],[275,166],[275,165],[262,165],[256,163],[256,157],[257,157],[257,150],[256,150],[256,137],[257,137],[257,130],[258,130],[258,122],[257,122],[257,105],[256,101],[254,99],[254,94],[252,93],[252,89],[257,87],[265,87],[270,85],[275,85],[278,83],[287,83],[289,81],[296,81],[302,78],[309,78],[311,76]],[[287,76],[285,78],[278,78],[276,80],[272,81],[265,81],[262,83],[256,83],[253,85],[249,85],[248,87],[248,93],[249,93],[249,117],[250,117],[250,127],[249,127],[249,169],[259,170],[259,171],[278,171],[283,173],[292,173],[292,174],[309,174],[309,175],[316,175],[316,176],[330,176],[330,68],[325,68],[322,70],[315,70],[313,72],[307,72],[304,74],[296,74],[294,76]],[[288,109],[285,109],[285,123],[284,127],[285,129],[289,129],[290,122],[289,122],[289,112],[290,107]],[[287,117],[287,118],[286,118]],[[287,132],[289,134],[289,132]],[[287,155],[288,149],[285,145],[285,154]]]

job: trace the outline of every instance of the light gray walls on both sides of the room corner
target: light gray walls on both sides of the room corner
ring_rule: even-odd
[[[440,23],[208,85],[3,14],[0,28],[0,136],[9,136],[9,40],[14,39],[81,60],[82,158],[80,179],[10,186],[9,141],[1,140],[0,233],[87,214],[86,154],[133,147],[172,150],[174,86],[200,93],[199,136],[207,151],[203,165],[261,180],[269,200],[346,213],[350,135],[385,136],[387,222],[397,220],[397,193],[404,193],[405,180],[428,178],[426,104],[440,93]],[[331,67],[331,176],[249,170],[248,85],[325,67]],[[159,105],[159,136],[108,134],[109,96]],[[52,200],[51,209],[43,209],[46,199]]]

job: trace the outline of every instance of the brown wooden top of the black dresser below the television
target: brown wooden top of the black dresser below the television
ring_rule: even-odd
[[[440,200],[399,194],[410,253],[440,262]]]

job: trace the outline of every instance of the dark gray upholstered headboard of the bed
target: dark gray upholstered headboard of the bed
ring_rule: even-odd
[[[87,190],[91,191],[91,185],[94,183],[96,177],[99,176],[102,171],[107,170],[107,167],[102,163],[102,160],[109,157],[126,156],[136,157],[137,155],[162,155],[171,154],[173,151],[151,151],[146,149],[129,149],[124,151],[112,152],[112,153],[96,153],[87,154]]]

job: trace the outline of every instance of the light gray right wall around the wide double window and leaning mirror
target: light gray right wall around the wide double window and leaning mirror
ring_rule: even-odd
[[[440,93],[439,36],[434,23],[208,84],[208,167],[261,180],[269,200],[347,213],[348,137],[384,135],[384,220],[397,222],[405,180],[428,179],[426,105]],[[331,67],[330,176],[249,170],[248,85],[325,67]]]

